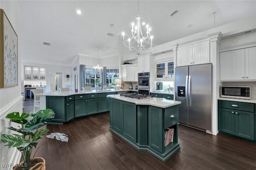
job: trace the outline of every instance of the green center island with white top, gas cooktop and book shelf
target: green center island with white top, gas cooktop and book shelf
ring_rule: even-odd
[[[109,129],[139,150],[147,150],[162,161],[179,148],[178,105],[164,98],[110,98]]]

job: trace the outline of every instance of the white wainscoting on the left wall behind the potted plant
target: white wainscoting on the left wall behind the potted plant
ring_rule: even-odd
[[[16,127],[18,124],[10,122],[6,119],[6,115],[12,112],[22,113],[22,99],[23,96],[19,96],[14,99],[8,105],[0,108],[0,134],[12,134],[14,131],[9,130],[7,127]],[[15,165],[20,162],[21,154],[17,148],[8,148],[4,146],[4,143],[0,142],[0,169],[1,170],[12,170],[11,164]],[[9,167],[5,165],[9,163]],[[4,165],[5,164],[5,165]]]

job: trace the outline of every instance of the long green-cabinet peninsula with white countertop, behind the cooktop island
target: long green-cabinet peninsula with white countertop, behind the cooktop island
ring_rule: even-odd
[[[79,92],[40,93],[40,109],[52,109],[55,113],[51,123],[63,124],[74,118],[104,113],[110,110],[107,95],[130,93],[130,90],[95,89]]]

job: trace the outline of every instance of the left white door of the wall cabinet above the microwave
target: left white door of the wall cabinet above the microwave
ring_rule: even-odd
[[[244,80],[244,49],[220,53],[220,80]]]

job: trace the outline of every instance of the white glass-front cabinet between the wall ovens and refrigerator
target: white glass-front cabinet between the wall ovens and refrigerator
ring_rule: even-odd
[[[156,79],[174,79],[173,60],[156,63]]]

